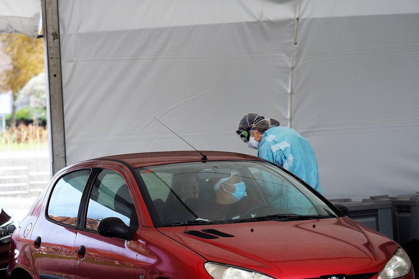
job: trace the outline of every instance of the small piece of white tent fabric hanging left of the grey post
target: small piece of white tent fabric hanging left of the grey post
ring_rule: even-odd
[[[0,33],[21,33],[36,38],[41,27],[41,1],[0,1]]]

